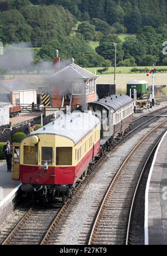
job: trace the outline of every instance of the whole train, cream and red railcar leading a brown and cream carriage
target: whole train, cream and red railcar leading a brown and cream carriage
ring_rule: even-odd
[[[61,200],[72,196],[78,180],[129,129],[133,102],[112,95],[59,114],[45,127],[13,143],[13,180],[36,199]]]

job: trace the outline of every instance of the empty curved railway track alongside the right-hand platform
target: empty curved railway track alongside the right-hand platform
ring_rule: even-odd
[[[166,122],[161,122],[141,139],[122,163],[102,201],[89,244],[128,244],[131,211],[145,167],[143,162],[148,161],[150,148],[156,146],[166,131]],[[158,128],[163,124],[165,127],[162,132]]]

